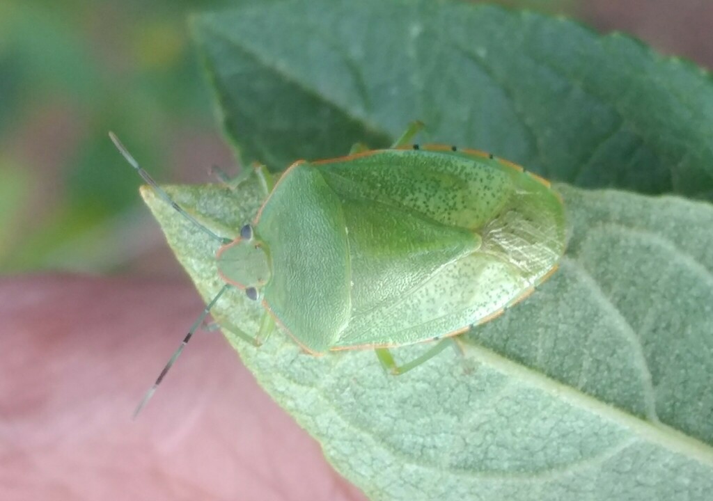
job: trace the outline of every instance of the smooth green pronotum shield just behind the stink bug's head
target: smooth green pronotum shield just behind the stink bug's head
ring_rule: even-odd
[[[265,302],[279,324],[314,353],[327,351],[349,322],[346,227],[339,199],[307,164],[282,176],[255,227],[272,262]]]

